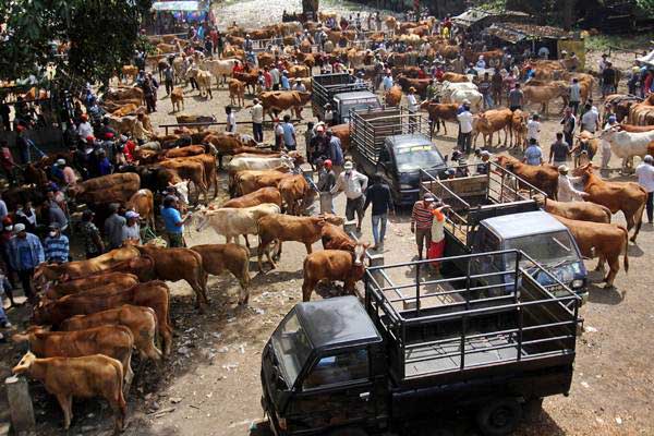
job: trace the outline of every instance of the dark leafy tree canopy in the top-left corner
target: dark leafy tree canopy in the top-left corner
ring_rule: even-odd
[[[0,0],[0,78],[40,75],[106,82],[130,63],[150,0]],[[58,46],[70,44],[66,56]],[[40,70],[40,71],[39,71]]]

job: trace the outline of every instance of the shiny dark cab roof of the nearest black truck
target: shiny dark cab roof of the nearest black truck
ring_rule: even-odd
[[[295,312],[316,349],[382,341],[373,320],[355,296],[300,303]]]

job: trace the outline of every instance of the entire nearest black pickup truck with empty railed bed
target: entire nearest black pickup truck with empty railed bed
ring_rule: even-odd
[[[365,304],[339,296],[295,305],[262,353],[274,433],[414,433],[468,413],[484,435],[506,435],[544,397],[567,395],[580,299],[548,292],[519,266],[518,251],[457,264],[506,256],[518,268],[494,272],[512,279],[512,288],[494,286],[504,287],[499,296],[470,274],[425,281],[424,261],[368,268]]]

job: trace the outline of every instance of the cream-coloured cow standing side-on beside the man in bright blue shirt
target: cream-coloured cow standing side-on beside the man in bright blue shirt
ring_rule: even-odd
[[[195,230],[199,232],[210,226],[216,233],[225,235],[227,243],[234,239],[237,244],[239,235],[242,234],[245,238],[245,245],[250,246],[247,235],[258,234],[258,219],[280,213],[281,208],[274,203],[264,203],[241,209],[201,209],[194,217]]]

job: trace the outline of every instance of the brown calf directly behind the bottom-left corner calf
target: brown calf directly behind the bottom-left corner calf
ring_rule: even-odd
[[[14,335],[14,342],[29,342],[29,351],[39,358],[82,358],[105,354],[122,364],[124,388],[130,391],[132,372],[132,331],[123,326],[100,326],[78,331],[48,331],[33,326],[24,335]]]

